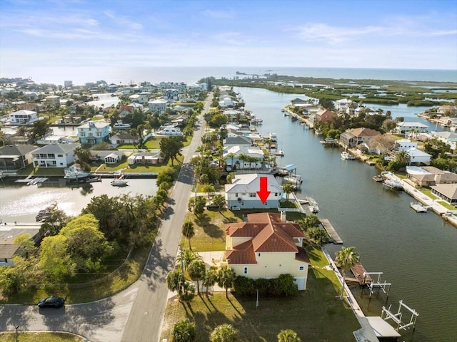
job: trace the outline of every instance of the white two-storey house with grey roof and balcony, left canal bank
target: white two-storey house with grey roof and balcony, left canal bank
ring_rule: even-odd
[[[79,144],[49,144],[32,152],[34,167],[68,167],[74,163]]]

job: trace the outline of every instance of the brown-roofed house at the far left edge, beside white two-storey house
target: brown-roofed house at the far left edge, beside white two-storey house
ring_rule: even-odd
[[[39,147],[29,144],[6,145],[0,148],[0,170],[19,171],[32,163],[32,152]]]

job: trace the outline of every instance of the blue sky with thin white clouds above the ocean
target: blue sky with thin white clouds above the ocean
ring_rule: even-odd
[[[0,0],[0,77],[126,66],[456,70],[457,1]]]

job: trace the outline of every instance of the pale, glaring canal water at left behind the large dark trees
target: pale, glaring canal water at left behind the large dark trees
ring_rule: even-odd
[[[89,187],[59,186],[57,182],[52,185],[45,182],[40,187],[0,182],[0,219],[3,222],[35,222],[36,214],[54,202],[66,214],[76,216],[91,202],[92,197],[104,194],[109,197],[155,195],[157,191],[155,179],[131,179],[127,187],[113,187],[111,180],[106,178],[90,183]]]

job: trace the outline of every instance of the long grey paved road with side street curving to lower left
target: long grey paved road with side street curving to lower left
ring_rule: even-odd
[[[209,110],[211,96],[204,113]],[[66,305],[62,309],[36,306],[0,306],[0,331],[70,331],[94,342],[159,341],[168,289],[166,274],[172,269],[181,225],[186,214],[194,172],[189,165],[204,134],[204,120],[185,148],[184,165],[169,199],[169,207],[140,279],[115,296],[88,304]]]

